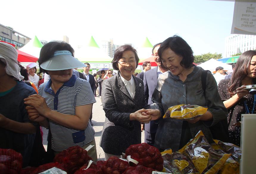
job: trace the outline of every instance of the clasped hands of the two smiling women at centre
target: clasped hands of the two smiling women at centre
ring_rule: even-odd
[[[140,109],[134,113],[130,113],[130,120],[137,120],[141,123],[149,123],[151,120],[157,120],[161,116],[158,109]]]

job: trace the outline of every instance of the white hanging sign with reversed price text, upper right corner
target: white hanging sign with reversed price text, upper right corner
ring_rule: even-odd
[[[231,34],[256,35],[256,2],[235,2]]]

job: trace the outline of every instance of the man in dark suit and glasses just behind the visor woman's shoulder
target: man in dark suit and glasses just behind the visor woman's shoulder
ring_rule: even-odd
[[[81,77],[80,77],[81,74],[79,74],[79,77],[82,78],[82,79],[87,80],[90,83],[90,86],[91,86],[92,91],[94,93],[94,90],[95,90],[95,80],[94,80],[93,75],[91,75],[89,73],[89,71],[90,71],[90,64],[86,62],[85,65],[87,65],[87,66],[84,67],[84,72],[81,73],[82,74]],[[93,108],[92,108],[92,110],[93,110]],[[93,118],[92,110],[91,110],[91,115],[90,115],[90,123],[93,126],[93,123],[92,123],[92,118]]]

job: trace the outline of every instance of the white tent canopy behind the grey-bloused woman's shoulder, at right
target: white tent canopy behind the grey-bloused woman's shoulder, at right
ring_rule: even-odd
[[[225,64],[225,63],[222,63],[220,61],[217,61],[213,58],[211,58],[210,60],[200,64],[200,65],[197,65],[198,67],[202,67],[203,69],[205,70],[209,70],[210,72],[213,72],[216,70],[217,67],[223,67],[224,70],[227,70],[228,72],[232,72],[233,69],[232,69],[232,65],[229,65],[229,64]]]

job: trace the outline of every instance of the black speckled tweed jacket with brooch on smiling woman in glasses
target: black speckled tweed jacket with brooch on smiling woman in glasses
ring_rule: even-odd
[[[149,109],[144,97],[143,81],[134,75],[135,94],[132,99],[119,72],[103,81],[102,103],[106,120],[100,146],[108,154],[122,155],[132,144],[141,143],[141,123],[130,121],[130,113],[142,108]]]

